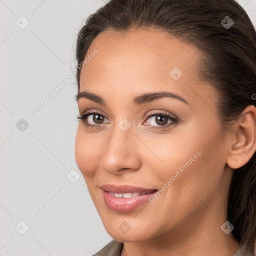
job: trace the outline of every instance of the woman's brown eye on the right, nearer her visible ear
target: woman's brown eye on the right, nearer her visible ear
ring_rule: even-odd
[[[146,122],[149,126],[153,126],[151,128],[166,128],[170,125],[174,125],[178,122],[178,119],[171,116],[167,113],[157,112],[157,113],[148,113]]]

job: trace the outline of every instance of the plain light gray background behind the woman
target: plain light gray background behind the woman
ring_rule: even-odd
[[[238,2],[255,25],[256,0]],[[71,73],[77,32],[102,4],[0,0],[2,256],[89,256],[112,239],[82,175],[74,183],[66,176],[72,169],[81,174],[74,158],[75,78],[51,100],[46,98]],[[15,23],[24,24],[22,15],[29,21],[24,29]],[[16,126],[21,118],[28,123],[23,131]],[[29,226],[24,234],[21,220]]]

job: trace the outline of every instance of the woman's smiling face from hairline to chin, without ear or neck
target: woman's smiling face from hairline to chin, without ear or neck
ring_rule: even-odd
[[[215,224],[231,176],[198,49],[139,28],[100,33],[87,55],[78,109],[88,115],[78,123],[75,159],[109,235],[142,241],[186,232],[202,218]]]

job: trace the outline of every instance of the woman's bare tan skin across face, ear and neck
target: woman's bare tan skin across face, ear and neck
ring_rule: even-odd
[[[80,115],[97,110],[105,118],[99,128],[88,128],[80,120],[75,159],[106,231],[124,243],[121,256],[231,256],[239,243],[220,226],[227,220],[233,171],[256,149],[255,107],[246,107],[224,132],[216,110],[217,94],[198,75],[202,54],[160,30],[109,29],[92,41],[87,54],[95,48],[99,52],[81,69],[80,91],[99,95],[106,106],[79,98],[78,109]],[[183,72],[176,81],[169,75],[173,67]],[[189,104],[170,97],[133,103],[140,94],[163,90]],[[155,121],[159,110],[179,122],[149,128],[160,127]],[[146,113],[156,115],[150,121]],[[118,126],[123,118],[131,123],[125,132]],[[197,151],[200,156],[154,202],[128,212],[106,206],[101,185],[161,189]],[[123,221],[131,227],[127,233],[118,228]]]

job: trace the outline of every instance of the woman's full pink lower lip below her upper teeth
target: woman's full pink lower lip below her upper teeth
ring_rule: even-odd
[[[127,212],[134,210],[142,203],[146,202],[150,196],[157,191],[153,191],[150,194],[141,194],[131,198],[114,197],[105,190],[103,190],[104,201],[107,207],[111,210],[118,212]]]

